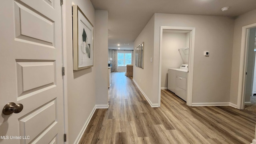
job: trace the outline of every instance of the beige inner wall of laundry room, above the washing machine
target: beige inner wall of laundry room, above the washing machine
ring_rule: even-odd
[[[183,64],[179,48],[185,48],[186,42],[186,34],[163,33],[161,88],[167,89],[168,68],[180,68]]]

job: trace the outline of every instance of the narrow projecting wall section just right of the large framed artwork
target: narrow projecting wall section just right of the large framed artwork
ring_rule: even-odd
[[[94,60],[96,104],[108,105],[108,11],[95,10]]]

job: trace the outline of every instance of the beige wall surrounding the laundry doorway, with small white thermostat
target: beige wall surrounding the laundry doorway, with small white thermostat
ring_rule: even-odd
[[[154,100],[159,92],[160,26],[194,27],[194,76],[192,103],[229,102],[234,20],[224,16],[155,14]],[[209,51],[210,56],[203,55]]]

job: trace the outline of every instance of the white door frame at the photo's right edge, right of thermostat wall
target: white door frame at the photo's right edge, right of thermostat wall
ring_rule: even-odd
[[[237,109],[244,109],[245,85],[246,85],[246,69],[248,58],[248,38],[250,28],[256,27],[256,23],[242,27],[241,52],[240,52],[240,68],[238,79],[238,96]]]

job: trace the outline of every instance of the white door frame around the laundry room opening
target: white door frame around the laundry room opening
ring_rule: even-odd
[[[162,38],[163,30],[188,30],[190,31],[190,46],[188,56],[188,83],[187,83],[187,105],[192,106],[192,90],[193,90],[193,72],[194,72],[194,48],[195,48],[195,32],[194,27],[174,27],[160,26],[160,48],[159,48],[159,78],[158,78],[158,106],[161,103],[161,72],[162,72]]]

